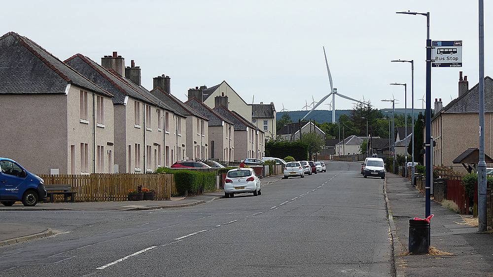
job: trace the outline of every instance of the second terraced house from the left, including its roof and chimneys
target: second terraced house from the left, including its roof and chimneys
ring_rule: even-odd
[[[81,54],[65,63],[114,96],[114,172],[153,172],[179,159],[176,137],[169,130],[184,116],[141,86],[140,68],[133,61],[125,68],[124,58],[113,52],[101,65]]]

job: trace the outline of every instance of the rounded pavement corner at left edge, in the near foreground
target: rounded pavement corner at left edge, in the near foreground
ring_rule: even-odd
[[[49,237],[53,231],[47,227],[16,223],[0,224],[0,246]]]

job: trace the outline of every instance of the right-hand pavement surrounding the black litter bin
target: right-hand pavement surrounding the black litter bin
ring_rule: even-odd
[[[409,219],[424,218],[425,199],[405,178],[387,174],[390,228],[397,276],[493,276],[493,235],[478,234],[454,211],[431,201],[431,246],[452,255],[406,255]],[[395,229],[395,230],[392,230]]]

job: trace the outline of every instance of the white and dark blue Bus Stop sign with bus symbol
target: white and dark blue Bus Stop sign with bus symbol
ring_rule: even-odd
[[[462,67],[462,40],[433,41],[432,67],[460,68]]]

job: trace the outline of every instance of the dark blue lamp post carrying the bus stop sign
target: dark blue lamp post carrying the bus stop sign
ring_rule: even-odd
[[[480,0],[482,1],[482,0]],[[481,3],[481,2],[480,2]],[[430,13],[418,13],[411,11],[397,12],[400,14],[423,15],[426,16],[426,134],[425,134],[425,150],[426,150],[426,199],[425,199],[425,216],[431,214],[430,208],[430,188],[432,178],[431,165],[431,39],[430,39]],[[480,6],[481,13],[481,6]],[[480,16],[481,20],[481,16]],[[481,34],[481,31],[480,31]],[[480,35],[481,36],[481,35]],[[481,79],[480,79],[481,82]]]

